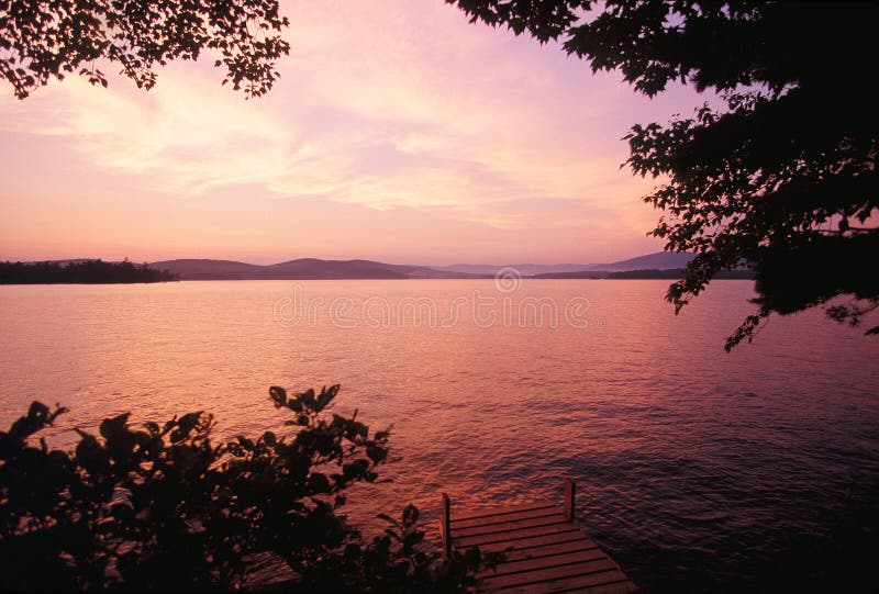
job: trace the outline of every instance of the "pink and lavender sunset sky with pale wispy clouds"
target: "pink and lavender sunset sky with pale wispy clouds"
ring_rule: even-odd
[[[212,60],[140,91],[0,83],[0,260],[367,258],[598,262],[661,249],[652,180],[620,169],[648,100],[557,46],[441,0],[282,3],[292,51],[268,97]],[[109,68],[105,68],[105,70]]]

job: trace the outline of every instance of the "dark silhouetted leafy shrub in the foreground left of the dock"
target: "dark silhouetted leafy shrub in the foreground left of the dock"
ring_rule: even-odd
[[[288,395],[289,435],[214,445],[197,412],[142,429],[129,414],[73,451],[36,435],[65,412],[34,402],[0,433],[0,581],[4,589],[237,589],[252,560],[283,560],[290,591],[446,592],[475,583],[478,551],[441,563],[422,550],[419,511],[365,540],[338,513],[374,482],[388,432],[325,411],[338,385]]]

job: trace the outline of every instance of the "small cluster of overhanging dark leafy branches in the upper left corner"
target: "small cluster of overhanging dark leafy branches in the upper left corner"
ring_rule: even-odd
[[[226,68],[223,85],[258,97],[290,52],[280,36],[287,25],[277,0],[0,0],[0,76],[24,99],[68,74],[107,87],[105,61],[149,89],[156,66],[208,49]]]

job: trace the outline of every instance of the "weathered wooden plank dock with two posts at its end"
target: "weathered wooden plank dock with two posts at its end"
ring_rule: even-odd
[[[637,587],[613,559],[577,526],[574,482],[565,482],[565,503],[536,502],[477,512],[455,512],[443,493],[443,553],[478,546],[505,552],[494,569],[483,571],[485,592],[539,594],[581,592],[623,594]]]

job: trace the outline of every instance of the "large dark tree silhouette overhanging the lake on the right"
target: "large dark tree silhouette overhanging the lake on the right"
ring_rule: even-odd
[[[772,312],[824,305],[858,325],[879,307],[877,5],[447,2],[472,21],[558,40],[593,71],[619,69],[649,97],[680,81],[726,103],[625,136],[634,172],[667,180],[644,198],[665,211],[650,234],[667,250],[698,254],[669,288],[676,312],[719,271],[756,272],[757,312],[726,350]]]

